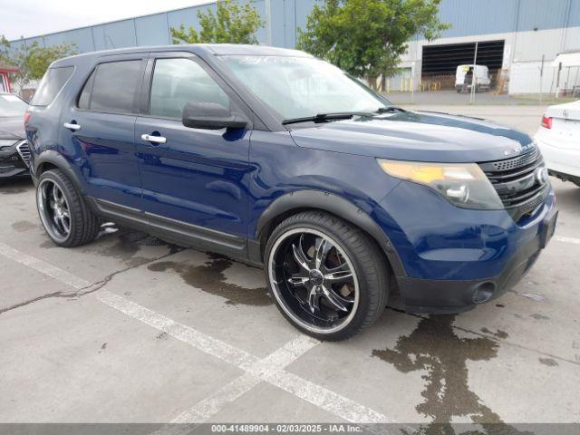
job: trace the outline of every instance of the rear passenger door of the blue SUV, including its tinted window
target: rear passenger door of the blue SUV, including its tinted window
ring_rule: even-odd
[[[148,53],[98,63],[75,104],[63,111],[61,140],[73,141],[87,194],[140,209],[139,163],[133,140]],[[61,142],[63,143],[63,142]]]

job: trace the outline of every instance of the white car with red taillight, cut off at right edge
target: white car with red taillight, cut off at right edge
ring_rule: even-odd
[[[548,107],[535,139],[550,175],[580,186],[580,100]]]

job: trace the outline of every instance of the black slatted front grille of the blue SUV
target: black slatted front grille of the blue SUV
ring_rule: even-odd
[[[538,168],[544,167],[537,148],[512,159],[479,163],[479,167],[515,221],[532,214],[549,192],[548,184],[536,177]]]

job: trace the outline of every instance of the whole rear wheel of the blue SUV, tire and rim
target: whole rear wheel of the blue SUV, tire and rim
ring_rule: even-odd
[[[44,230],[60,247],[78,247],[99,234],[99,218],[60,169],[45,171],[38,179],[36,207]]]

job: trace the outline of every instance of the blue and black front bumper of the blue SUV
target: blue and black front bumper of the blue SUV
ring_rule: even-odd
[[[405,268],[396,276],[404,308],[430,314],[460,313],[506,293],[534,265],[557,218],[551,188],[518,222],[506,210],[455,208],[411,183],[394,189],[381,210],[376,216]]]

